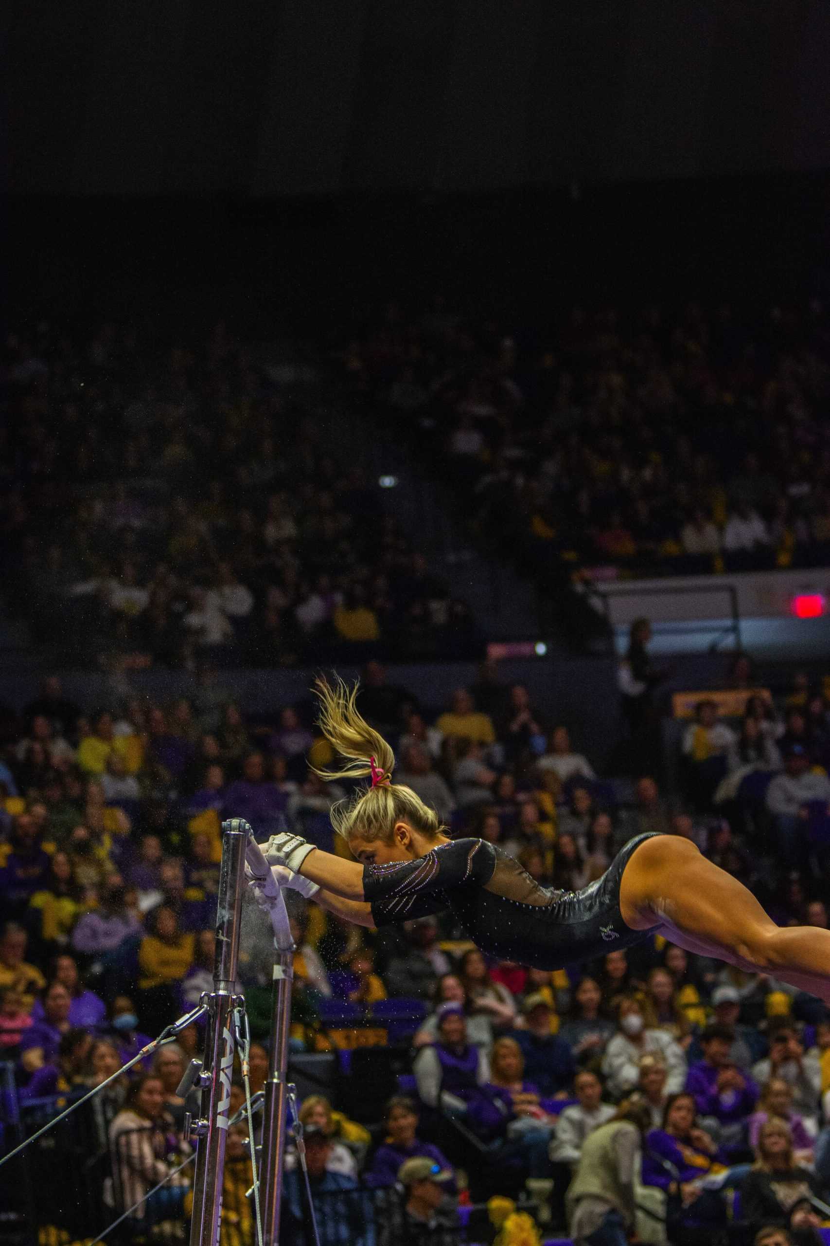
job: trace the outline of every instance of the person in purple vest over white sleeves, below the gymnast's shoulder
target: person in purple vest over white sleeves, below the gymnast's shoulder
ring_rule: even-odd
[[[453,1113],[464,1113],[469,1100],[477,1096],[477,1088],[488,1082],[487,1053],[469,1042],[460,1004],[441,1006],[438,1039],[432,1047],[421,1048],[412,1072],[422,1101]]]

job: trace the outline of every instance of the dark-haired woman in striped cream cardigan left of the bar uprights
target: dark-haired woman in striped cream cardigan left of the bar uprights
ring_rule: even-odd
[[[173,1169],[175,1151],[187,1144],[170,1136],[169,1124],[162,1082],[144,1073],[110,1126],[113,1180],[107,1201],[117,1211],[138,1205],[134,1216],[147,1225],[180,1216],[184,1206],[188,1177]]]

